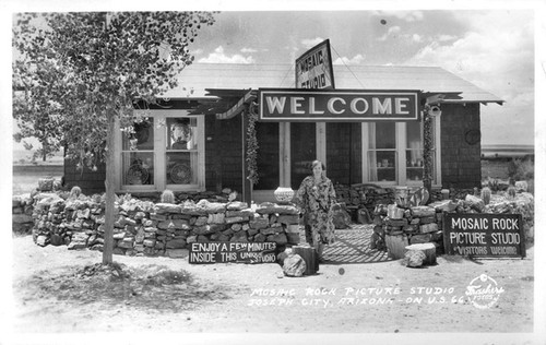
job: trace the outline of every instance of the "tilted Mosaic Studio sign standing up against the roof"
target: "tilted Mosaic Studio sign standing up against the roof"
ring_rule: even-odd
[[[335,88],[329,39],[296,59],[296,87]]]

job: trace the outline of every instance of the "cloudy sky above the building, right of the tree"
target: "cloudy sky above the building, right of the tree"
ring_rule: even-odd
[[[441,67],[506,104],[482,106],[482,144],[534,142],[530,10],[227,11],[203,28],[197,62],[294,63],[329,38],[335,64]]]

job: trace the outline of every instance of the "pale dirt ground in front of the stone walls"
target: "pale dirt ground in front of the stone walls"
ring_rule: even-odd
[[[522,333],[523,340],[533,332],[533,246],[523,260],[444,255],[425,269],[400,261],[322,264],[305,277],[283,276],[273,263],[115,255],[127,270],[181,270],[192,277],[147,293],[126,285],[118,295],[71,283],[84,279],[78,272],[99,263],[100,252],[41,248],[31,236],[13,237],[13,248],[14,334],[479,332]],[[471,301],[467,286],[480,275],[495,281],[486,282],[492,292],[487,301]]]

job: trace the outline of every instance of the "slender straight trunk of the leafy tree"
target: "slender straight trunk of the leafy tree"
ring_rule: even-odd
[[[103,248],[103,264],[112,263],[114,253],[114,215],[115,215],[115,171],[114,171],[114,133],[115,118],[112,114],[108,114],[108,132],[106,135],[106,210],[105,210],[105,230],[104,230],[104,248]]]

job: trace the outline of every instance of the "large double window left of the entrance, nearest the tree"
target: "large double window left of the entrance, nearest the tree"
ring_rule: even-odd
[[[204,190],[204,119],[186,110],[149,110],[134,134],[118,131],[121,191]]]

